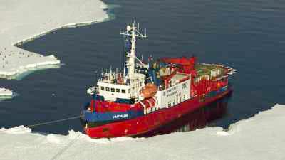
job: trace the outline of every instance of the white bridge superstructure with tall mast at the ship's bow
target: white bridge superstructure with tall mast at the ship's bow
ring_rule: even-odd
[[[140,65],[148,68],[148,65],[142,63],[135,56],[135,41],[136,37],[146,38],[140,33],[139,28],[135,26],[135,22],[131,26],[127,26],[125,32],[120,32],[120,35],[126,37],[125,43],[130,45],[129,49],[125,50],[125,62],[123,73],[118,71],[102,72],[101,78],[97,82],[97,87],[94,92],[99,96],[103,96],[104,100],[115,101],[120,99],[139,99],[139,90],[145,86],[145,74],[137,73],[135,67],[138,60]]]

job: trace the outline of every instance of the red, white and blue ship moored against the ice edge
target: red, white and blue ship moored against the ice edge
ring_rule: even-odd
[[[144,62],[136,56],[136,41],[147,38],[139,23],[132,21],[120,35],[122,70],[102,71],[96,85],[87,90],[91,100],[81,110],[81,124],[89,137],[147,135],[232,93],[233,68],[198,63],[192,55],[157,60],[150,56]]]

